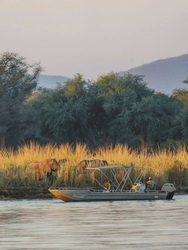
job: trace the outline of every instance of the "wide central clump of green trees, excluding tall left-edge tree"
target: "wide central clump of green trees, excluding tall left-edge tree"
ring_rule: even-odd
[[[182,102],[155,93],[140,76],[110,73],[86,82],[76,75],[64,86],[38,93],[32,102],[38,117],[33,136],[45,141],[157,146],[187,133]]]

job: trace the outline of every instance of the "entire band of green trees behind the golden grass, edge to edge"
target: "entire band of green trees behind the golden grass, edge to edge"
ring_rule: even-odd
[[[7,145],[37,140],[156,147],[188,139],[187,90],[167,96],[149,89],[141,76],[110,73],[93,82],[77,74],[56,89],[36,91],[40,70],[17,54],[0,59],[0,135]]]

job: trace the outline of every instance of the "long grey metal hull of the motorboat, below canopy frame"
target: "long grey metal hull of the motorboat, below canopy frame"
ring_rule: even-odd
[[[173,194],[169,192],[110,192],[92,191],[89,189],[64,189],[50,188],[49,191],[58,199],[63,201],[115,201],[115,200],[165,200],[172,199]]]

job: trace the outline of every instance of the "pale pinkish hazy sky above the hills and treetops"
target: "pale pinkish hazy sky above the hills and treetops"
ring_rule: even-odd
[[[188,53],[188,0],[0,0],[0,54],[95,79]]]

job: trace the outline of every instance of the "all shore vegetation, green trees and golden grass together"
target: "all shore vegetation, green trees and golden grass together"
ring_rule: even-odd
[[[2,197],[43,197],[50,186],[95,188],[83,160],[144,166],[143,182],[152,176],[157,189],[167,182],[188,187],[186,88],[169,96],[148,88],[142,75],[114,72],[95,81],[78,73],[40,88],[40,64],[11,52],[0,56],[0,71]]]

